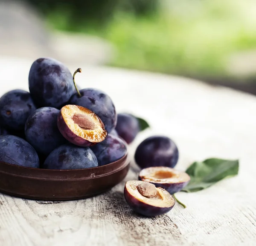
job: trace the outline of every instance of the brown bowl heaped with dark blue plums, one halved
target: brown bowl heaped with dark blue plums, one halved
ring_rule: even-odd
[[[29,92],[0,98],[0,192],[36,200],[91,197],[121,182],[129,169],[111,98],[79,89],[67,66],[38,58]]]

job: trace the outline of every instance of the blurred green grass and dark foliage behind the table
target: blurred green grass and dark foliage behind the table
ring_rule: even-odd
[[[53,29],[111,42],[109,66],[255,84],[255,0],[28,1]]]

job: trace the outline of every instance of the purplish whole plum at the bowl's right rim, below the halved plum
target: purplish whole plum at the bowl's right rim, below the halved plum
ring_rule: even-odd
[[[126,143],[113,135],[108,135],[104,141],[90,148],[96,155],[99,166],[119,160],[127,153]]]

